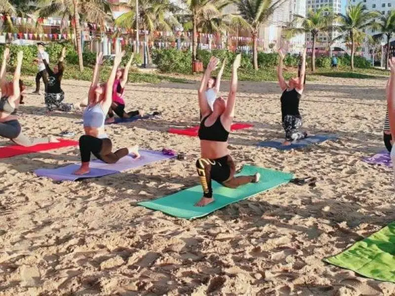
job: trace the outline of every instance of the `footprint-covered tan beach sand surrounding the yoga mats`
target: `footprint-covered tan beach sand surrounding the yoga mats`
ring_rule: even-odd
[[[128,111],[158,110],[162,117],[106,127],[114,147],[172,148],[189,159],[63,183],[32,172],[79,161],[78,148],[0,159],[0,295],[395,295],[394,284],[321,260],[395,220],[391,169],[361,161],[384,148],[385,83],[308,82],[304,127],[340,140],[283,152],[256,148],[283,136],[279,87],[240,82],[236,120],[254,128],[231,134],[237,168],[255,164],[318,182],[283,185],[194,221],[136,203],[198,183],[198,140],[166,132],[197,123],[197,82],[128,84]],[[65,101],[86,97],[88,85],[65,80]],[[228,87],[224,82],[221,90]],[[48,116],[43,96],[25,101],[26,134],[67,130],[78,140],[80,113]]]

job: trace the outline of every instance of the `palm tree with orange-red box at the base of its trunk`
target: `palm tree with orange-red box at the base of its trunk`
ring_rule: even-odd
[[[196,49],[197,49],[197,31],[201,26],[207,27],[208,23],[214,24],[214,19],[221,18],[222,9],[230,4],[231,0],[185,0],[187,5],[188,14],[183,14],[181,17],[189,19],[189,24],[186,28],[192,27],[192,60],[196,61]],[[209,25],[210,26],[210,25]]]

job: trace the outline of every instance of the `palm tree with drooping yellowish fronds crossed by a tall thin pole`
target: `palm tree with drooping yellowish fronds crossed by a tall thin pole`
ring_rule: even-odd
[[[179,25],[173,15],[179,8],[169,0],[139,0],[138,5],[138,17],[136,17],[136,0],[130,0],[128,3],[130,11],[120,15],[115,20],[115,25],[119,28],[134,29],[139,24],[143,31],[150,32],[151,37],[154,31],[173,31],[173,27]],[[136,34],[138,38],[138,32]],[[151,64],[149,52],[148,60]]]

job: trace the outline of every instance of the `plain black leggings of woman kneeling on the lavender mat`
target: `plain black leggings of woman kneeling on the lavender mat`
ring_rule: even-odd
[[[79,138],[79,151],[81,153],[81,161],[89,162],[90,153],[105,163],[116,163],[120,158],[129,154],[127,148],[121,148],[111,152],[113,144],[108,138],[99,139],[89,135],[83,135]]]

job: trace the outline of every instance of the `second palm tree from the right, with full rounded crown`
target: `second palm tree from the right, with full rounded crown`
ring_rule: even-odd
[[[332,41],[350,38],[351,41],[351,69],[354,70],[354,55],[356,50],[356,38],[367,36],[365,29],[372,26],[373,19],[378,16],[376,11],[368,11],[363,3],[350,5],[346,9],[346,14],[339,15],[339,31],[343,32]]]

